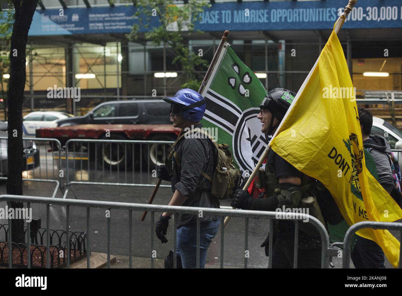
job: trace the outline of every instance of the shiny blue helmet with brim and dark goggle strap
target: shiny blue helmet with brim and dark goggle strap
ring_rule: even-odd
[[[174,97],[164,97],[163,100],[171,104],[172,115],[183,114],[185,120],[200,121],[205,113],[205,99],[192,89],[180,89]]]

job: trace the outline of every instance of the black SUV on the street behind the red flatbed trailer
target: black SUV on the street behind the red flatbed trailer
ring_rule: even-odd
[[[61,119],[57,126],[76,124],[171,124],[170,104],[162,99],[101,103],[84,116]]]

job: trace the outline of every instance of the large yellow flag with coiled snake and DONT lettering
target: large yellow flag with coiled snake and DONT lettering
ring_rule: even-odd
[[[345,55],[334,31],[299,89],[271,148],[301,172],[320,180],[349,226],[392,222],[402,210],[365,166],[355,93]],[[381,246],[396,267],[400,243],[388,230],[357,232]]]

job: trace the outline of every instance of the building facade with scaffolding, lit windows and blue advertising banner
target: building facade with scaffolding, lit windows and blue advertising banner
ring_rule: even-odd
[[[228,42],[266,89],[297,92],[346,4],[211,1],[195,25],[203,33],[186,35],[185,42],[210,62],[229,30]],[[172,64],[174,54],[163,44],[126,37],[136,9],[132,1],[42,0],[29,31],[25,110],[81,114],[105,100],[174,95],[187,80]],[[358,1],[338,37],[356,89],[401,91],[402,0]],[[197,72],[200,80],[205,72]],[[80,87],[82,99],[49,100],[54,86]]]

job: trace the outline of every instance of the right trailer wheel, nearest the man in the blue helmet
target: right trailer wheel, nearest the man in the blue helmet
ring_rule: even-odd
[[[176,138],[176,135],[155,135],[147,139],[147,141],[174,141]],[[144,145],[143,149],[144,161],[146,161],[146,165],[148,165],[149,159],[149,164],[151,167],[160,166],[161,164],[165,164],[165,158],[169,155],[170,144],[153,143]]]

